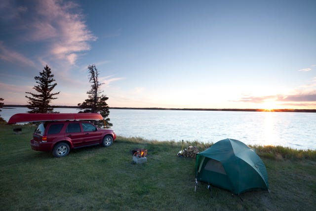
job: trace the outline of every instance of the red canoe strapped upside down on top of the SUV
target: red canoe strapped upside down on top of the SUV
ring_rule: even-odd
[[[65,113],[65,114],[29,114],[20,113],[13,115],[8,124],[66,121],[66,120],[103,120],[101,114],[97,113]]]

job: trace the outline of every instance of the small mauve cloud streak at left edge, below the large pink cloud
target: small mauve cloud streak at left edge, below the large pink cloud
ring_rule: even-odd
[[[20,63],[21,65],[36,67],[32,60],[18,52],[7,49],[7,47],[3,45],[3,42],[0,42],[0,59],[11,63]]]

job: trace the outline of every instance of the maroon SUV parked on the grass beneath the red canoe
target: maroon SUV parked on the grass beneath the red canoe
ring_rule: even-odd
[[[41,123],[33,133],[31,147],[37,151],[52,152],[54,157],[68,155],[70,149],[85,146],[111,146],[116,134],[85,121],[57,121]]]

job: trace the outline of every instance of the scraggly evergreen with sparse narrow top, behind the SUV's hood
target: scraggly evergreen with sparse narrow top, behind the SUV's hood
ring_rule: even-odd
[[[102,85],[99,82],[99,71],[95,67],[95,65],[88,66],[88,72],[90,75],[89,83],[91,83],[91,89],[87,91],[88,99],[84,100],[83,103],[78,103],[80,108],[79,113],[100,113],[105,121],[106,128],[110,128],[113,126],[112,123],[109,123],[110,118],[108,118],[110,111],[109,105],[106,100],[109,99],[106,95],[102,94],[103,90],[100,89]],[[96,125],[101,126],[102,124],[95,123]]]

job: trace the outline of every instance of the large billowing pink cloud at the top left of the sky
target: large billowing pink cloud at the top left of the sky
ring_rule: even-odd
[[[97,39],[87,29],[79,5],[72,1],[33,0],[27,1],[23,6],[13,5],[25,4],[23,1],[5,2],[5,9],[14,15],[6,18],[3,26],[19,35],[16,38],[18,40],[42,42],[42,48],[47,50],[40,56],[54,56],[55,59],[74,65],[80,53],[90,50],[89,42]],[[4,8],[0,9],[2,10]],[[4,20],[3,16],[0,15],[1,20]]]

